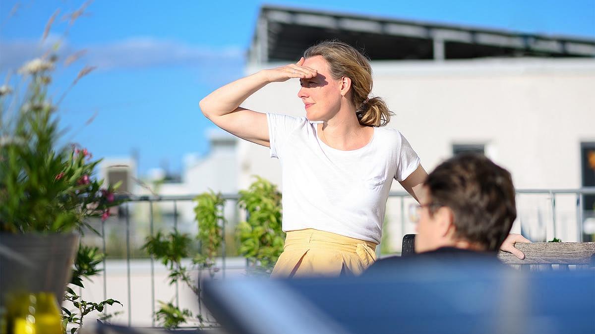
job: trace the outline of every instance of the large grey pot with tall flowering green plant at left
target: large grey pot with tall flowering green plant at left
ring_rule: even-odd
[[[48,94],[55,62],[39,58],[19,70],[22,96],[0,87],[0,311],[12,292],[51,292],[61,303],[80,232],[120,203],[117,185],[93,176],[99,160],[62,141]]]

